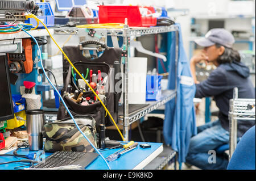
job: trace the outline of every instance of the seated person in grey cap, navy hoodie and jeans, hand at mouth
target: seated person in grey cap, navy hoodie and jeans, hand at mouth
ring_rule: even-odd
[[[250,70],[240,61],[240,54],[232,48],[233,35],[214,28],[204,38],[195,40],[204,49],[191,58],[191,73],[196,83],[196,98],[213,96],[219,108],[218,120],[197,127],[197,135],[191,138],[186,163],[200,169],[226,169],[228,157],[225,154],[212,155],[214,149],[229,143],[229,100],[233,89],[238,87],[238,98],[255,98],[255,88],[250,79]],[[212,62],[217,68],[209,77],[199,82],[196,79],[196,64],[201,60]],[[238,120],[238,140],[255,121]],[[216,157],[215,157],[216,156]],[[215,158],[214,158],[215,157]]]

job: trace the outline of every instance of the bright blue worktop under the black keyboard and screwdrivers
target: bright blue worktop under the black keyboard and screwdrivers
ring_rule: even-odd
[[[151,148],[143,149],[139,146],[139,144],[146,144],[146,142],[138,142],[137,148],[121,155],[118,159],[116,159],[113,162],[108,162],[109,166],[112,170],[140,170],[143,169],[148,163],[150,163],[155,157],[157,157],[162,151],[163,151],[163,144],[162,143],[147,143],[151,145]],[[108,157],[108,155],[114,153],[118,149],[111,149],[111,150],[105,150],[101,151],[101,154],[104,156],[104,158]],[[15,150],[15,149],[14,149]],[[13,154],[13,151],[11,150],[5,154]],[[2,150],[0,151],[0,154]],[[30,151],[28,148],[21,148],[18,150],[18,154],[28,154],[31,152],[36,151]],[[51,155],[52,153],[45,154],[46,157]],[[19,157],[13,157],[13,156],[0,156],[0,163],[2,162],[10,162],[10,161],[18,161]],[[14,170],[17,166],[23,166],[27,165],[28,163],[8,163],[5,165],[0,165],[0,170]],[[28,168],[28,166],[20,167],[19,169]],[[104,160],[98,156],[88,167],[86,167],[86,170],[108,170],[108,166],[104,162]]]

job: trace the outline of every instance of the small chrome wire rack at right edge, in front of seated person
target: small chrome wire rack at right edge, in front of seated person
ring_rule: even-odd
[[[229,101],[229,159],[232,157],[237,146],[237,120],[255,121],[255,108],[248,108],[254,105],[255,99],[238,99],[238,89],[234,88],[233,99]]]

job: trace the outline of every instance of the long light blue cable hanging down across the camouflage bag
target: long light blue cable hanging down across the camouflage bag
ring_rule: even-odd
[[[64,107],[66,108],[66,110],[68,111],[68,113],[69,113],[69,115],[71,116],[72,120],[73,120],[74,123],[76,124],[77,129],[79,129],[79,131],[81,132],[82,136],[84,136],[85,139],[89,142],[89,144],[92,145],[92,147],[97,151],[97,153],[101,156],[101,158],[104,159],[104,161],[106,162],[106,165],[108,166],[109,170],[111,170],[111,168],[110,168],[108,162],[107,162],[106,159],[103,157],[103,155],[100,153],[100,151],[98,151],[98,149],[92,144],[92,142],[90,142],[90,140],[89,140],[89,139],[85,136],[85,134],[81,131],[81,129],[80,129],[79,126],[77,125],[77,123],[76,123],[76,121],[75,121],[75,119],[74,119],[72,113],[69,111],[69,109],[68,109],[67,105],[65,104],[65,102],[64,102],[64,100],[63,100],[63,98],[62,98],[62,96],[60,95],[60,92],[57,91],[56,87],[53,85],[53,83],[52,83],[52,82],[50,81],[50,79],[48,78],[48,76],[47,76],[47,74],[46,74],[46,71],[44,70],[44,66],[43,66],[43,62],[42,62],[42,56],[41,56],[41,50],[40,50],[40,47],[39,47],[39,45],[38,45],[38,41],[36,41],[36,39],[35,39],[32,35],[30,35],[30,33],[28,33],[26,30],[24,30],[23,28],[22,28],[22,31],[24,31],[25,33],[27,33],[27,34],[35,41],[36,46],[38,47],[38,50],[39,50],[39,58],[40,58],[40,63],[41,63],[41,66],[42,66],[44,75],[46,75],[47,80],[49,81],[49,83],[51,84],[51,86],[53,87],[53,89],[57,92],[57,94],[59,95],[61,102],[63,102]]]

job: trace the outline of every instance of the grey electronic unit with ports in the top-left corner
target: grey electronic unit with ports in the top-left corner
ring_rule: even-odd
[[[0,22],[26,20],[24,12],[35,14],[39,11],[34,1],[0,0]]]

